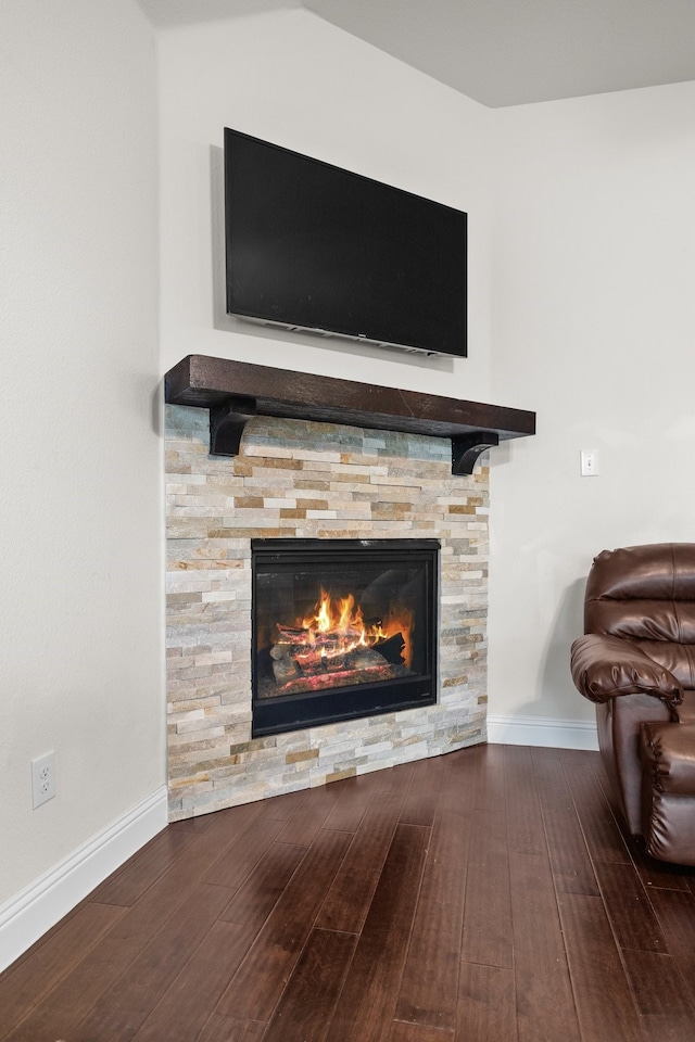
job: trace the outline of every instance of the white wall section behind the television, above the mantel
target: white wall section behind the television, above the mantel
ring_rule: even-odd
[[[207,354],[488,401],[486,111],[305,10],[168,29],[157,39],[165,369]],[[470,357],[426,360],[227,317],[225,126],[468,211]]]

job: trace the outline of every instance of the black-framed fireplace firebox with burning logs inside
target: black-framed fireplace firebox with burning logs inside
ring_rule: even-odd
[[[437,539],[252,539],[253,737],[437,701]]]

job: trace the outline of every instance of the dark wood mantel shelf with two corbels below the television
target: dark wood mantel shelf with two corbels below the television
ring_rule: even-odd
[[[181,359],[167,372],[164,387],[170,405],[210,409],[213,456],[236,456],[243,429],[254,416],[451,437],[455,474],[472,473],[485,448],[535,433],[535,412],[522,409],[205,355]]]

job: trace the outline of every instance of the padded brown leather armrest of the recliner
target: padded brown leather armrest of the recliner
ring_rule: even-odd
[[[674,710],[683,701],[683,688],[673,674],[621,637],[596,633],[579,637],[572,644],[571,670],[577,689],[591,702],[653,695]]]

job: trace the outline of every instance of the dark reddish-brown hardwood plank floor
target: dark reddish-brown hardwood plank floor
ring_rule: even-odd
[[[598,753],[479,746],[170,825],[0,976],[8,1042],[693,1042],[695,873]]]

